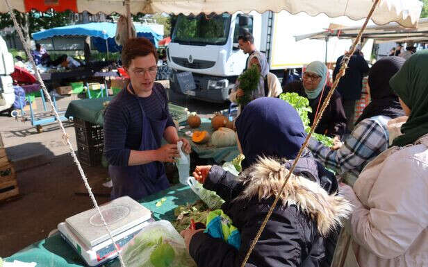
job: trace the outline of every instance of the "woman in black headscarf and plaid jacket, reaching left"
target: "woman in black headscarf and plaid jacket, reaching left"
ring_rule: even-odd
[[[311,139],[308,148],[320,162],[336,171],[349,185],[354,184],[364,166],[388,148],[388,122],[404,116],[398,96],[389,85],[390,78],[406,60],[386,57],[377,61],[368,75],[372,101],[356,121],[356,126],[344,143],[334,150]],[[393,122],[393,121],[391,121]]]

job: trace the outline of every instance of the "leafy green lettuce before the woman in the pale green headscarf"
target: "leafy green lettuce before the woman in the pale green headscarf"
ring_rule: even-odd
[[[295,110],[297,110],[300,119],[302,119],[304,130],[306,133],[308,133],[311,130],[311,126],[309,126],[311,121],[309,120],[308,112],[312,112],[312,109],[309,106],[308,98],[299,96],[297,93],[280,94],[279,98],[281,98],[283,101],[286,101],[288,104],[294,107]],[[312,136],[324,144],[324,146],[333,146],[333,138],[331,137],[320,135],[316,132],[313,132]]]

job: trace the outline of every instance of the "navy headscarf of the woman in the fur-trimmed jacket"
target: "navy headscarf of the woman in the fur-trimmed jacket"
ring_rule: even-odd
[[[258,156],[294,160],[306,137],[296,110],[272,97],[257,98],[246,105],[236,119],[236,132],[245,155],[242,169],[254,164]]]

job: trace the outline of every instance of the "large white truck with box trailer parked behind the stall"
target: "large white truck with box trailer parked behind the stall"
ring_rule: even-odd
[[[331,23],[344,26],[357,22],[346,17],[330,19],[281,11],[260,14],[179,15],[167,47],[167,63],[172,68],[170,87],[208,102],[227,101],[236,78],[245,68],[247,55],[238,47],[238,35],[252,33],[254,44],[267,55],[270,71],[281,81],[284,69],[302,68],[313,60],[336,62],[351,40],[330,38],[295,41],[295,36],[325,31]],[[327,49],[326,49],[327,44]],[[327,55],[326,55],[327,53]]]

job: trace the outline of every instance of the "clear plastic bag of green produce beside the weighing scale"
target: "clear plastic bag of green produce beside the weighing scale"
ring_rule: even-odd
[[[126,267],[196,267],[184,239],[169,221],[144,227],[122,250]]]

